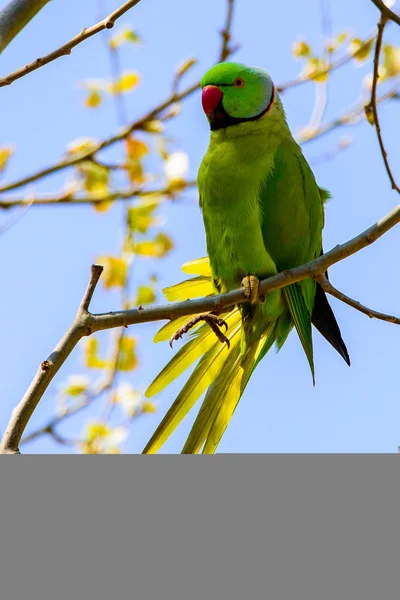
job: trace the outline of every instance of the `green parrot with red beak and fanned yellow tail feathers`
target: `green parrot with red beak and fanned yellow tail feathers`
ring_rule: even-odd
[[[254,369],[274,342],[278,350],[282,347],[293,327],[314,384],[312,324],[350,365],[318,283],[306,279],[265,297],[258,294],[259,280],[322,254],[324,202],[329,198],[290,132],[270,76],[259,68],[224,62],[204,75],[201,87],[211,129],[197,180],[208,259],[184,265],[186,273],[197,277],[164,292],[169,300],[186,300],[243,285],[247,301],[222,315],[193,315],[186,325],[187,317],[178,319],[158,332],[155,341],[171,333],[177,339],[195,327],[146,396],[200,360],[144,453],[157,452],[206,390],[182,452],[214,453]],[[223,323],[226,336],[219,329]]]

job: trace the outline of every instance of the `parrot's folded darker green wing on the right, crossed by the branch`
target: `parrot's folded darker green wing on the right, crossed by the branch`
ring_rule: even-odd
[[[320,190],[293,139],[285,139],[279,146],[260,201],[264,244],[279,271],[320,255],[324,218]],[[284,295],[314,380],[311,315],[315,282],[295,283],[284,288]]]

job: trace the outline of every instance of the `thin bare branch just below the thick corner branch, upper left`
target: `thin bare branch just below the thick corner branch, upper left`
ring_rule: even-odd
[[[48,2],[48,0],[45,0],[45,2],[42,0],[41,2],[40,1],[36,2],[36,4],[42,4],[42,6],[43,6],[46,2]],[[43,67],[44,65],[47,65],[50,62],[53,62],[53,60],[56,60],[57,58],[60,58],[61,56],[71,54],[72,49],[75,48],[75,46],[78,46],[78,44],[81,44],[88,38],[92,37],[96,33],[99,33],[100,31],[103,31],[104,29],[111,29],[112,27],[114,27],[115,21],[117,19],[119,19],[120,17],[122,17],[122,15],[125,14],[128,10],[130,10],[131,8],[136,6],[136,4],[138,4],[139,2],[140,2],[140,0],[130,0],[130,2],[125,2],[122,6],[117,8],[117,10],[114,10],[114,12],[112,12],[110,15],[108,15],[108,17],[106,17],[102,21],[99,21],[99,23],[96,23],[96,25],[92,25],[92,27],[83,29],[80,33],[78,33],[78,35],[76,35],[74,38],[72,38],[72,40],[70,40],[66,44],[63,44],[62,46],[60,46],[60,48],[57,48],[57,50],[50,52],[50,54],[47,54],[46,56],[37,58],[36,60],[29,63],[28,65],[25,65],[24,67],[17,69],[17,71],[14,71],[13,73],[10,73],[9,75],[6,75],[6,77],[1,78],[0,79],[0,87],[4,87],[5,85],[10,85],[11,83],[13,83],[13,81],[20,79],[21,77],[24,77],[25,75],[28,75],[28,73],[32,73],[32,71],[36,71],[36,69],[40,69],[40,67]],[[29,0],[16,0],[16,3],[17,4],[18,3],[33,4],[33,2],[30,2]],[[38,8],[38,10],[39,10],[39,8]],[[0,18],[1,18],[1,14],[0,14]],[[0,42],[1,42],[1,22],[0,22]],[[1,50],[1,46],[0,46],[0,50]]]

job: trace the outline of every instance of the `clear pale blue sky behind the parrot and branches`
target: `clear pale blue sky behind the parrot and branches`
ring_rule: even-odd
[[[119,3],[108,0],[105,4],[110,12]],[[96,0],[49,3],[1,57],[1,75],[54,49],[83,27],[96,22],[98,16]],[[219,48],[217,32],[224,16],[224,0],[201,3],[142,0],[121,19],[120,25],[132,24],[144,39],[142,47],[127,46],[121,53],[123,68],[138,70],[143,77],[141,86],[127,98],[130,119],[168,96],[174,70],[183,58],[199,59],[187,77],[188,83],[215,62]],[[363,37],[374,30],[377,10],[368,0],[336,0],[331,2],[331,18],[334,33],[346,29]],[[296,76],[301,68],[290,50],[296,38],[305,38],[313,47],[321,47],[320,2],[238,0],[233,32],[235,41],[241,44],[235,60],[263,67],[276,83],[281,83]],[[0,90],[0,145],[15,143],[17,147],[2,181],[11,181],[54,162],[73,139],[102,138],[115,131],[112,102],[108,101],[99,110],[86,109],[84,92],[79,87],[79,82],[85,79],[109,75],[101,35],[80,45],[69,57]],[[388,27],[387,40],[398,43],[399,29]],[[351,64],[333,74],[326,119],[340,114],[359,99],[362,78],[370,70],[369,61],[359,68]],[[284,94],[283,102],[294,132],[307,123],[313,101],[313,84]],[[395,172],[400,134],[398,111],[397,102],[385,105],[380,111],[385,143]],[[174,138],[176,149],[189,154],[190,175],[194,178],[208,140],[199,94],[183,105],[168,133]],[[375,131],[366,122],[336,130],[307,144],[304,146],[306,157],[315,161],[332,150],[345,135],[353,138],[351,146],[334,160],[313,167],[320,185],[333,195],[326,212],[325,249],[361,232],[398,202],[397,195],[390,189]],[[56,191],[64,181],[65,173],[49,177],[31,189]],[[121,215],[121,204],[101,215],[91,207],[34,207],[0,236],[2,431],[38,364],[71,323],[91,263],[101,254],[118,251]],[[182,201],[169,205],[166,215],[167,231],[175,241],[175,250],[162,262],[138,262],[135,283],[145,281],[154,270],[159,274],[161,285],[174,283],[181,277],[183,262],[205,253],[195,191],[186,192]],[[1,213],[0,223],[9,218],[10,213]],[[398,230],[392,230],[372,247],[332,268],[330,276],[334,285],[377,310],[399,315],[398,237]],[[313,388],[300,343],[292,334],[282,351],[271,352],[253,375],[219,452],[397,451],[400,444],[397,380],[400,330],[394,325],[370,320],[335,299],[331,303],[350,352],[351,368],[315,333],[317,385]],[[99,286],[91,308],[97,312],[119,308],[118,293],[105,292]],[[131,331],[139,339],[140,369],[128,379],[141,389],[146,388],[171,357],[168,344],[154,346],[152,343],[158,327],[149,324]],[[30,430],[52,414],[57,386],[76,372],[82,372],[79,349],[42,399]],[[141,451],[183,381],[181,378],[160,394],[156,415],[146,416],[132,427],[124,445],[126,452]],[[96,412],[85,413],[84,417],[93,415]],[[194,416],[182,424],[163,451],[180,451]],[[63,431],[76,434],[82,423],[81,417],[71,420]],[[26,446],[25,451],[66,450],[43,438]]]

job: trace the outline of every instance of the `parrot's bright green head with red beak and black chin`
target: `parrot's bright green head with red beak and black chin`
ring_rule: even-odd
[[[268,73],[240,63],[212,67],[201,80],[202,105],[212,131],[266,116],[275,102]]]

